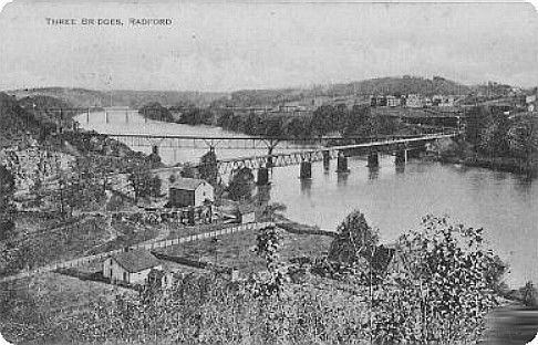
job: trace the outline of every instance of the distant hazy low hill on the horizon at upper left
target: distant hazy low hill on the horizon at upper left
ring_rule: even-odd
[[[72,104],[76,107],[90,106],[130,106],[138,108],[141,105],[158,102],[163,105],[175,105],[184,102],[194,103],[199,106],[208,105],[213,101],[225,96],[224,93],[204,93],[204,92],[176,92],[176,91],[130,91],[114,90],[112,92],[72,88],[72,87],[42,87],[13,90],[7,93],[14,95],[17,98],[49,96]]]

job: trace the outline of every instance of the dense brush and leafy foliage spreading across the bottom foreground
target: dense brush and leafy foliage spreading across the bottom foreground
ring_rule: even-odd
[[[333,248],[343,248],[349,255],[337,255],[331,264],[345,271],[342,274],[318,276],[313,265],[283,262],[282,234],[268,227],[254,247],[266,260],[266,271],[240,281],[193,273],[168,289],[153,284],[138,294],[102,296],[75,312],[40,316],[39,326],[44,328],[40,332],[48,335],[42,341],[475,344],[480,339],[485,316],[497,305],[496,286],[505,270],[487,248],[482,229],[426,216],[418,230],[397,240],[383,272],[348,260],[362,255],[361,248],[376,245],[376,233],[362,213],[350,215],[340,230],[342,237],[335,238],[339,245]],[[356,241],[356,234],[363,240],[352,255],[353,247],[344,239]],[[293,274],[301,270],[311,273],[297,280]]]

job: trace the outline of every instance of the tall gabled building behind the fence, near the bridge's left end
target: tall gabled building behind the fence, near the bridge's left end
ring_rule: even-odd
[[[172,207],[199,207],[213,201],[215,201],[215,189],[203,179],[179,178],[169,189]]]

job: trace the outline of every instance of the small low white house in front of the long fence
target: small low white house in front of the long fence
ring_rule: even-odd
[[[162,270],[163,265],[152,253],[143,249],[127,250],[103,262],[103,276],[113,283],[145,284],[153,269]]]

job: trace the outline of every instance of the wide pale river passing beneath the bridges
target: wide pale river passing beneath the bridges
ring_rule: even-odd
[[[101,133],[180,135],[237,135],[221,128],[146,121],[136,113],[125,116],[103,114],[79,116],[81,127]],[[132,147],[148,153],[151,147]],[[167,164],[197,161],[207,149],[161,149]],[[219,150],[218,157],[247,156],[252,150]],[[256,153],[265,153],[256,150]],[[380,230],[383,242],[394,241],[404,230],[417,229],[427,213],[447,215],[467,227],[483,227],[492,248],[508,262],[506,276],[513,288],[526,281],[538,283],[538,186],[537,181],[484,168],[410,160],[404,167],[394,157],[382,156],[380,168],[371,170],[364,157],[349,160],[350,174],[337,174],[312,164],[312,179],[300,180],[299,167],[275,168],[270,198],[287,206],[292,220],[335,229],[353,209],[361,210],[370,226]]]

